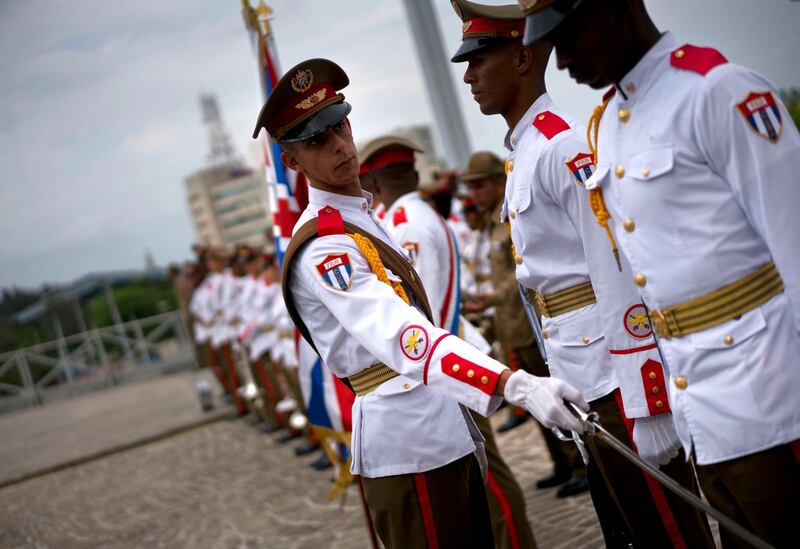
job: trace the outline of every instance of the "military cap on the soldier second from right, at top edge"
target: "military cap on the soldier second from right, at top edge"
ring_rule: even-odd
[[[469,0],[450,0],[456,15],[464,22],[461,46],[453,63],[467,61],[474,52],[500,42],[521,38],[525,31],[525,15],[515,4],[484,6]]]

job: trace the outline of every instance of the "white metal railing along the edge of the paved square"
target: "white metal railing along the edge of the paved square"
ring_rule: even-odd
[[[0,354],[0,412],[192,367],[179,311],[134,319]]]

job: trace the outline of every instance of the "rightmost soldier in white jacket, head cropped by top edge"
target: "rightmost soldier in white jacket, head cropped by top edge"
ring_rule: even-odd
[[[770,543],[795,546],[797,128],[769,81],[662,34],[641,1],[528,11],[526,41],[552,41],[578,82],[612,86],[590,121],[587,188],[649,309],[703,490]]]

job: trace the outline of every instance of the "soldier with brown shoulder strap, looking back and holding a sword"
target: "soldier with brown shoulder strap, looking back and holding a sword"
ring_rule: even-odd
[[[256,124],[255,135],[266,127],[284,164],[310,184],[284,262],[287,306],[358,395],[352,472],[363,477],[384,545],[491,546],[473,458],[480,440],[458,402],[486,415],[505,396],[547,425],[577,428],[563,399],[586,403],[560,380],[511,375],[431,322],[418,275],[361,191],[350,105],[337,93],[348,83],[335,63],[304,61],[280,80]]]

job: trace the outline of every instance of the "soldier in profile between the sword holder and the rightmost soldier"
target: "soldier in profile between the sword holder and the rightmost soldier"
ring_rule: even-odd
[[[517,280],[542,317],[550,372],[581,389],[617,438],[696,491],[691,465],[678,456],[664,368],[630,266],[611,255],[583,186],[593,169],[585,132],[545,88],[551,47],[522,45],[525,22],[516,5],[453,5],[465,30],[453,60],[468,61],[464,81],[481,111],[502,115],[509,127],[500,218],[508,223]],[[494,40],[485,37],[490,31]],[[610,447],[589,442],[590,489],[607,544],[713,547],[702,514]],[[620,529],[629,539],[619,539]]]

